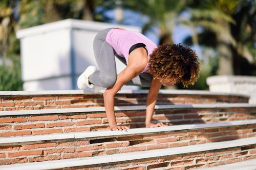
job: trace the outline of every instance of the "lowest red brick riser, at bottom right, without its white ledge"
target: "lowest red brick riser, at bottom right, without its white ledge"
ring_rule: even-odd
[[[248,148],[255,147],[255,145],[246,146]],[[72,168],[64,168],[63,170],[105,170],[105,169],[115,169],[115,170],[157,170],[164,168],[165,170],[190,170],[196,168],[209,168],[213,166],[225,165],[229,163],[244,161],[256,157],[256,154],[250,155],[243,154],[239,157],[235,157],[233,154],[225,155],[226,151],[233,151],[235,153],[237,150],[241,150],[242,147],[235,147],[229,149],[219,149],[207,152],[197,152],[191,154],[179,154],[171,156],[162,156],[155,158],[130,160],[106,164],[97,164],[90,166],[79,166]],[[208,156],[207,156],[208,154]],[[57,170],[57,169],[56,169]]]

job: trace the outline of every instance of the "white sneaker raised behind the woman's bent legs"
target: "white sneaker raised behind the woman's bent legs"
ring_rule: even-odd
[[[94,85],[89,84],[89,76],[96,71],[95,66],[89,66],[85,71],[78,77],[77,86],[79,89],[84,90],[87,86],[92,88]]]

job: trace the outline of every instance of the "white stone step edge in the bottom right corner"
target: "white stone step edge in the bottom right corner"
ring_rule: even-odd
[[[196,170],[256,170],[256,159],[249,159],[242,162],[235,162],[210,168],[200,168]]]

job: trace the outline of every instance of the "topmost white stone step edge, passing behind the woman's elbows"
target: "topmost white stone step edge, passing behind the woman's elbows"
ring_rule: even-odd
[[[118,94],[148,94],[149,90],[120,90]],[[73,94],[102,94],[95,93],[93,90],[42,90],[42,91],[0,91],[0,96],[22,96],[22,95],[73,95]],[[237,93],[219,93],[207,90],[159,90],[159,94],[184,94],[184,95],[220,95],[220,96],[239,96],[248,95]]]

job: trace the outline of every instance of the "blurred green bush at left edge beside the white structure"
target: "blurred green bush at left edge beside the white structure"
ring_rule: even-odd
[[[0,60],[0,91],[22,90],[20,57]]]

